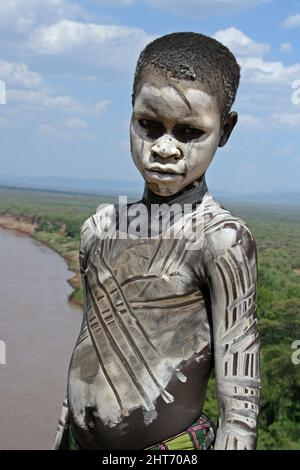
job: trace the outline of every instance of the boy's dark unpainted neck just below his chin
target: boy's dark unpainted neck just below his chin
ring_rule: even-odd
[[[204,194],[207,192],[205,175],[201,176],[198,180],[189,184],[182,191],[179,191],[172,196],[158,196],[145,184],[143,203],[149,204],[195,204],[200,203]]]

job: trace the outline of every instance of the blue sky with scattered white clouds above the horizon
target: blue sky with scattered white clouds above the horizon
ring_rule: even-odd
[[[239,122],[208,185],[299,191],[300,1],[0,0],[0,175],[127,180],[135,63],[155,37],[194,31],[241,65]]]

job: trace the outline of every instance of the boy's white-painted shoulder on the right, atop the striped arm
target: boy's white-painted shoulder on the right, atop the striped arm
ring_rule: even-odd
[[[218,255],[237,245],[255,251],[255,241],[246,222],[225,209],[210,193],[203,198],[203,211],[204,240],[211,253]]]

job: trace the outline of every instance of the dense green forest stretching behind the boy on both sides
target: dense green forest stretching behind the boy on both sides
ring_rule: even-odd
[[[9,214],[28,218],[34,238],[78,270],[80,226],[100,203],[111,201],[96,195],[0,188],[0,226]],[[292,363],[292,343],[300,340],[300,207],[223,203],[247,221],[257,243],[262,373],[258,448],[300,449],[300,364]],[[80,303],[80,286],[74,287],[73,300]],[[205,411],[217,420],[213,378]]]

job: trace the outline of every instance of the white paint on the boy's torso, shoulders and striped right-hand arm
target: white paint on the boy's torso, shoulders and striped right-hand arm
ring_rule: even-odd
[[[255,257],[246,254],[252,249],[247,245],[252,237],[244,223],[222,209],[208,193],[201,205],[205,246],[198,252],[184,251],[182,240],[176,240],[175,244],[172,240],[100,241],[97,234],[100,214],[84,224],[81,252],[82,260],[87,260],[83,269],[84,282],[89,287],[68,386],[70,412],[80,428],[86,429],[86,406],[93,407],[94,415],[111,428],[121,428],[124,418],[130,418],[134,410],[141,408],[147,426],[159,419],[156,410],[159,397],[166,406],[174,401],[168,390],[171,380],[181,383],[193,380],[182,373],[185,361],[199,364],[199,373],[210,369],[212,343],[200,286],[207,282],[205,273],[211,272],[221,413],[216,448],[251,449],[255,445],[260,387],[256,265]],[[157,243],[162,244],[161,253]],[[171,252],[173,256],[169,257]],[[129,282],[135,276],[139,280]],[[115,290],[116,281],[122,286],[119,291]],[[109,298],[119,309],[118,314],[113,313],[108,297],[103,297],[102,284],[112,292]],[[93,303],[91,295],[98,300]],[[184,303],[188,305],[181,306]],[[122,327],[118,315],[119,320],[122,317]],[[103,319],[109,334],[99,326]],[[109,335],[129,366],[122,363]],[[136,353],[137,349],[140,354]],[[203,389],[197,390],[200,402],[204,400],[205,388],[204,383]],[[187,410],[189,404],[190,397],[187,397]]]

